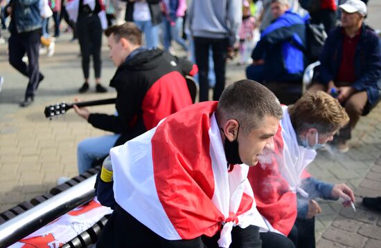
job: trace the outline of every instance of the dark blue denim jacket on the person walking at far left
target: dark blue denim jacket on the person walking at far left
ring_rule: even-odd
[[[22,33],[37,30],[42,27],[42,18],[39,10],[40,0],[11,0],[12,18],[9,31]]]

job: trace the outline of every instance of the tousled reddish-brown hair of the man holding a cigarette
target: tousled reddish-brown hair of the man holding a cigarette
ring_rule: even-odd
[[[321,90],[305,93],[288,108],[288,113],[296,134],[309,128],[329,133],[349,122],[348,114],[339,101]]]

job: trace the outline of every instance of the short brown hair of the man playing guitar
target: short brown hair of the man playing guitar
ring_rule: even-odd
[[[141,45],[141,30],[133,22],[126,22],[121,25],[114,25],[105,30],[105,35],[109,37],[114,35],[115,41],[121,38],[127,39],[131,44]]]

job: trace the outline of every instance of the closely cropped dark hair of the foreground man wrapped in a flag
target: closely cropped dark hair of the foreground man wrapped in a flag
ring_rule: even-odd
[[[281,104],[274,93],[249,79],[227,86],[222,92],[216,111],[219,124],[236,120],[244,133],[260,127],[265,116],[280,120],[282,115]]]

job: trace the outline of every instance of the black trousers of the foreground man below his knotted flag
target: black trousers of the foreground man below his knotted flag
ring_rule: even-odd
[[[290,239],[277,233],[258,233],[258,227],[245,229],[233,227],[231,248],[294,248]],[[218,248],[220,232],[213,237],[198,237],[192,240],[166,240],[145,227],[138,220],[116,205],[107,221],[96,247],[165,247],[165,248]]]

